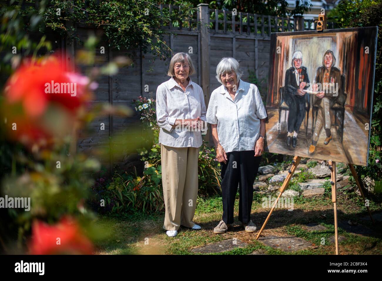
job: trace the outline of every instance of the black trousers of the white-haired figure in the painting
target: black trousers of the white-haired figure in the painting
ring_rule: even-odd
[[[288,132],[298,133],[305,117],[305,97],[290,96],[288,106]]]

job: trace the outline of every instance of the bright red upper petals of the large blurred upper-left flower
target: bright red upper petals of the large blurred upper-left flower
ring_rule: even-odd
[[[75,111],[89,98],[87,84],[86,76],[66,71],[60,59],[51,56],[22,65],[7,81],[5,97],[10,104],[21,102],[31,117],[43,114],[49,102]]]

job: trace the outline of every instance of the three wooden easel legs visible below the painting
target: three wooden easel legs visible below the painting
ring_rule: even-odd
[[[277,202],[278,202],[278,199],[280,199],[281,195],[283,194],[283,192],[286,190],[286,187],[288,186],[294,172],[296,171],[297,169],[297,166],[299,164],[301,160],[301,156],[295,156],[292,160],[292,167],[291,169],[288,171],[289,174],[288,176],[286,177],[286,179],[284,180],[283,182],[283,185],[281,186],[280,188],[280,194],[278,195],[277,199],[275,200],[275,203],[274,205],[272,206],[272,208],[270,209],[270,212],[267,216],[267,218],[265,219],[265,222],[264,224],[262,225],[259,233],[257,234],[256,236],[256,240],[259,239],[260,237],[260,234],[261,232],[263,231],[264,227],[267,225],[267,222],[270,218],[270,215],[272,214],[273,210],[275,209],[275,207],[277,206]],[[329,160],[329,169],[330,169],[330,174],[331,174],[331,184],[332,184],[332,202],[333,202],[333,205],[334,205],[334,234],[335,234],[335,254],[338,255],[338,224],[337,224],[337,175],[336,175],[336,166],[335,166],[335,162],[332,161],[332,160]],[[351,170],[351,174],[353,174],[353,177],[354,177],[354,180],[356,181],[356,184],[357,184],[357,187],[359,189],[359,192],[361,193],[361,196],[362,196],[362,199],[363,201],[365,202],[366,201],[366,198],[363,194],[363,189],[361,187],[361,184],[358,180],[358,175],[357,175],[357,172],[356,170],[354,169],[354,166],[353,164],[349,164],[349,167],[350,167],[350,170]],[[371,215],[371,211],[370,211],[370,208],[369,206],[366,206],[367,208],[367,211],[369,212],[369,216],[371,218],[371,221],[372,223],[374,223],[374,219],[373,219],[373,216]]]

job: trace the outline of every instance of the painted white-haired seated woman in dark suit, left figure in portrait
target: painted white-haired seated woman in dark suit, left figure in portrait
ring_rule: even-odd
[[[288,134],[286,146],[297,146],[297,135],[305,117],[305,108],[309,107],[309,94],[304,92],[309,88],[308,71],[303,64],[303,54],[296,51],[292,57],[292,66],[285,72],[284,101],[289,106]]]

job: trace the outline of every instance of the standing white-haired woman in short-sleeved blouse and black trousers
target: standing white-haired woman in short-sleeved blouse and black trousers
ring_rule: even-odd
[[[214,233],[225,233],[233,223],[238,185],[239,221],[246,232],[254,232],[253,182],[264,151],[267,114],[256,85],[240,79],[243,71],[235,58],[222,58],[216,74],[222,86],[211,94],[207,122],[211,124],[216,158],[222,165],[223,216]]]

